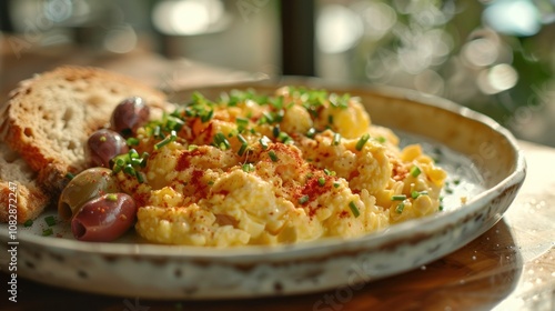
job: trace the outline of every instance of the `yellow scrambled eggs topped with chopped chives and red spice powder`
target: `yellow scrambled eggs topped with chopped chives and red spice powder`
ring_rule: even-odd
[[[357,98],[323,90],[195,93],[137,139],[147,164],[117,175],[140,205],[137,232],[159,243],[359,237],[438,211],[446,178]]]

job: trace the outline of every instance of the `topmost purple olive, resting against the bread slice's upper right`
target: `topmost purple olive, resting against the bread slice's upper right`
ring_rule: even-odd
[[[131,97],[121,101],[112,112],[111,128],[130,137],[137,129],[149,121],[150,109],[140,97]]]

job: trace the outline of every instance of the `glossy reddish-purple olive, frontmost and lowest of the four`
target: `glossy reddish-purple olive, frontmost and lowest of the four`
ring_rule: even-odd
[[[80,241],[109,242],[134,223],[137,204],[127,193],[108,193],[92,199],[71,220],[73,237]]]

